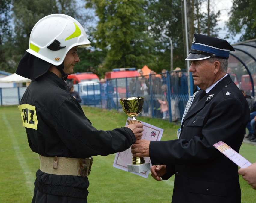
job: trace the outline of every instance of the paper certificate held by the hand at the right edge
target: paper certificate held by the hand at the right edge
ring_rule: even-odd
[[[215,146],[222,154],[228,157],[231,161],[233,161],[236,165],[240,166],[241,168],[246,168],[251,165],[251,163],[242,157],[239,153],[233,150],[230,146],[226,143],[220,141]]]

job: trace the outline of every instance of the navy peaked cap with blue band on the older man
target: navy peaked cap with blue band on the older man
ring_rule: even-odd
[[[210,57],[227,59],[229,51],[235,51],[235,49],[226,40],[195,33],[185,60],[203,60]]]

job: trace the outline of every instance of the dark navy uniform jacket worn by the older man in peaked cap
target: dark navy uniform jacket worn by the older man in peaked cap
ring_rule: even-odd
[[[227,75],[200,101],[202,90],[182,123],[179,139],[151,142],[152,165],[166,164],[175,174],[172,202],[241,202],[238,166],[213,144],[223,141],[239,152],[250,110]]]

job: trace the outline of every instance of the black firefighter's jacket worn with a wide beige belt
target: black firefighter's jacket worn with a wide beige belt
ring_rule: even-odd
[[[42,156],[106,156],[124,151],[136,141],[126,127],[111,131],[94,128],[66,83],[49,71],[29,84],[21,104],[28,109],[24,110],[23,122],[31,124],[26,125],[29,146]],[[31,110],[33,107],[36,112]],[[33,129],[35,125],[37,129]],[[87,177],[46,174],[40,170],[36,173],[35,188],[42,193],[86,198],[88,186]]]

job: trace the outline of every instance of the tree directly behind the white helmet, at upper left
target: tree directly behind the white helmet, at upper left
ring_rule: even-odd
[[[29,36],[34,25],[44,16],[53,13],[67,14],[72,17],[75,12],[73,0],[14,0],[14,33],[17,54],[25,54],[29,45]]]

